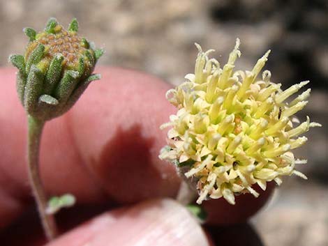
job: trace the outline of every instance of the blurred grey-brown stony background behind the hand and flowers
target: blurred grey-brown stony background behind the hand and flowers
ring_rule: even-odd
[[[212,56],[224,64],[240,38],[237,68],[244,70],[271,49],[266,68],[272,80],[286,89],[310,79],[311,100],[298,116],[323,127],[312,129],[311,141],[296,153],[308,159],[299,166],[308,180],[285,178],[269,206],[237,229],[255,243],[236,245],[327,246],[327,6],[325,0],[0,0],[0,66],[8,66],[10,53],[24,52],[24,27],[43,29],[49,17],[65,25],[77,17],[82,35],[106,49],[100,64],[143,70],[174,85],[193,72],[195,42],[216,49]]]

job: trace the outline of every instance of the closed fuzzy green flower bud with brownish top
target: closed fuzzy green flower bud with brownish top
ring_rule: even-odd
[[[29,37],[24,56],[13,54],[9,61],[18,68],[17,93],[27,114],[47,121],[72,107],[91,81],[103,49],[95,49],[77,35],[73,19],[68,30],[50,18],[44,31],[23,31]]]

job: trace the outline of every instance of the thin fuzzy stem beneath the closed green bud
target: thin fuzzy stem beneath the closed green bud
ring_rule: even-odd
[[[57,236],[57,226],[53,215],[48,215],[45,210],[47,208],[47,197],[40,178],[39,169],[39,149],[40,138],[43,131],[45,121],[40,121],[33,116],[28,116],[28,165],[29,180],[33,191],[34,199],[38,206],[40,220],[48,240],[52,240]]]

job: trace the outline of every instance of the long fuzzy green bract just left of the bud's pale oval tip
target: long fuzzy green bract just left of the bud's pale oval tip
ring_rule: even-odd
[[[24,91],[24,107],[31,116],[37,111],[38,98],[43,91],[43,72],[35,65],[31,66]]]

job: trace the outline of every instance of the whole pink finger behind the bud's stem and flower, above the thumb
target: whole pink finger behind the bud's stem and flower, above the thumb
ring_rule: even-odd
[[[73,193],[79,203],[174,197],[179,178],[171,164],[158,160],[166,134],[158,126],[176,111],[165,100],[170,86],[121,68],[97,72],[103,79],[93,82],[70,112],[45,125],[40,169],[47,192]],[[0,70],[0,78],[5,82],[0,97],[6,99],[0,100],[0,195],[17,203],[8,207],[9,200],[0,199],[0,217],[8,223],[31,192],[26,119],[15,92],[15,70]],[[251,202],[247,207],[258,201]]]

